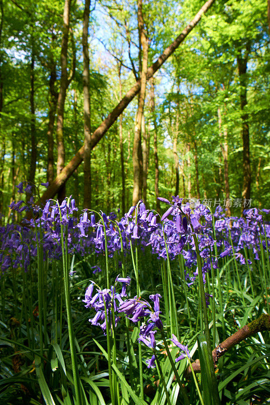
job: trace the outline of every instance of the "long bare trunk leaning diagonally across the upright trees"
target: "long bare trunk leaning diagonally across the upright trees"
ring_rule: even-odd
[[[165,49],[163,54],[147,69],[147,80],[156,73],[156,71],[163,65],[163,63],[172,55],[172,53],[179,47],[179,45],[184,41],[185,37],[189,32],[198,24],[202,15],[209,10],[215,0],[208,0],[200,11],[196,14],[194,19],[184,28],[180,35],[172,42],[172,44]],[[124,111],[124,109],[129,105],[131,100],[139,93],[141,87],[141,80],[137,80],[136,84],[127,92],[120,103],[108,114],[101,125],[94,131],[91,137],[91,149],[96,146],[107,130],[112,126],[119,115]],[[42,196],[42,203],[48,198],[52,198],[58,190],[63,186],[63,184],[69,179],[71,174],[76,168],[82,163],[84,159],[84,146],[73,156],[70,162],[62,169],[60,174],[57,175],[53,183],[47,188]]]

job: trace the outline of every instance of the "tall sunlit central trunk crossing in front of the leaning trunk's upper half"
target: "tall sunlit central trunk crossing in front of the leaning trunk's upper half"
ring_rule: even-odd
[[[141,148],[141,124],[144,108],[144,99],[146,92],[146,74],[148,60],[148,40],[146,37],[143,15],[142,15],[142,0],[138,0],[138,30],[140,49],[142,47],[142,64],[141,64],[141,88],[139,93],[139,103],[136,116],[136,125],[133,143],[133,197],[132,204],[136,205],[142,197],[142,182],[143,182],[143,161]]]

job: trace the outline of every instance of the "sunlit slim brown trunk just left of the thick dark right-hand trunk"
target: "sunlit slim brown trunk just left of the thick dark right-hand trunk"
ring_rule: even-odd
[[[223,156],[223,167],[224,167],[224,184],[225,184],[225,212],[226,216],[230,217],[230,203],[229,203],[229,177],[228,177],[228,133],[227,128],[225,127],[222,132],[222,115],[221,110],[218,107],[217,109],[218,116],[218,128],[219,128],[219,137],[220,137],[220,148]],[[223,141],[222,141],[223,138]]]

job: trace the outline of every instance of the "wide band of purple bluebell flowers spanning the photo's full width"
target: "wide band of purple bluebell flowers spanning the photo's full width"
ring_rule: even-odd
[[[23,190],[20,183],[18,190],[20,193],[28,192],[29,187],[27,187],[28,185]],[[127,254],[130,250],[130,243],[133,244],[134,240],[137,240],[140,249],[143,250],[146,246],[150,246],[152,253],[159,259],[167,260],[167,245],[170,260],[180,254],[183,256],[186,268],[190,269],[190,272],[186,271],[189,285],[194,283],[198,274],[192,237],[194,232],[199,242],[204,274],[211,268],[211,256],[212,265],[216,268],[219,257],[233,255],[230,237],[236,259],[242,264],[246,263],[245,248],[252,251],[255,260],[259,259],[261,248],[267,252],[265,240],[270,238],[270,225],[264,221],[263,213],[268,214],[270,210],[248,209],[242,218],[226,218],[221,207],[217,207],[215,213],[212,214],[202,204],[195,207],[191,207],[188,203],[183,205],[182,198],[178,196],[172,198],[172,203],[166,198],[160,198],[160,200],[169,205],[161,221],[155,211],[146,210],[142,200],[139,201],[137,207],[131,207],[120,221],[117,221],[115,213],[107,216],[100,212],[101,220],[97,214],[89,210],[84,210],[77,218],[75,213],[78,208],[71,197],[64,199],[60,205],[58,201],[48,200],[44,208],[36,206],[32,197],[27,204],[22,199],[16,201],[10,205],[11,210],[19,213],[26,209],[32,210],[33,218],[23,219],[21,224],[13,223],[0,228],[2,271],[12,267],[27,270],[30,258],[37,254],[35,231],[37,231],[38,240],[42,240],[44,259],[46,257],[59,259],[62,254],[61,224],[64,225],[67,233],[67,247],[65,248],[70,254],[74,252],[81,256],[91,252],[95,252],[97,255],[103,254],[105,233],[109,257],[113,257],[114,252],[121,250],[121,241],[124,252]],[[217,255],[214,251],[215,242]],[[251,264],[250,259],[248,259],[248,263]]]

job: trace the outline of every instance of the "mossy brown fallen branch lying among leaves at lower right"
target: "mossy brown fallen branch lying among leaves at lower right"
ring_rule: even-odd
[[[245,325],[239,331],[229,336],[224,342],[220,343],[213,351],[212,356],[214,360],[214,366],[217,365],[218,359],[223,356],[230,348],[234,347],[242,340],[255,335],[258,332],[270,331],[270,315],[262,314],[257,319],[252,320],[248,325]],[[194,363],[191,363],[192,369],[195,373],[201,372],[200,360],[197,359]],[[191,373],[190,366],[186,370],[185,374],[189,375]]]

